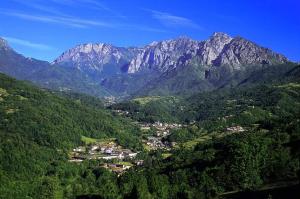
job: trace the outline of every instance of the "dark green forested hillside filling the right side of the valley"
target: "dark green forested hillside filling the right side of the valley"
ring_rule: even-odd
[[[178,145],[168,158],[160,151],[146,160],[146,191],[133,183],[126,193],[145,194],[141,198],[299,197],[300,84],[294,80],[200,93],[176,103],[148,97],[113,106],[143,122],[187,124],[166,138]],[[166,108],[172,106],[177,114]],[[135,182],[141,174],[126,177]]]

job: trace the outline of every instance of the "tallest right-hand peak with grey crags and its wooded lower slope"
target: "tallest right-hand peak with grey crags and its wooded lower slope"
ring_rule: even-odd
[[[289,64],[295,66],[280,54],[240,37],[231,38],[224,33],[214,33],[199,45],[194,57],[181,57],[185,60],[184,64],[164,72],[136,95],[184,94],[226,85],[235,86],[251,75],[262,73],[265,68],[275,65],[285,67]],[[278,70],[276,68],[273,67]]]

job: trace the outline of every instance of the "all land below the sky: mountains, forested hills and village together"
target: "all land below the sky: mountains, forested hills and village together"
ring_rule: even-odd
[[[0,39],[0,72],[1,199],[299,198],[300,66],[248,39]]]

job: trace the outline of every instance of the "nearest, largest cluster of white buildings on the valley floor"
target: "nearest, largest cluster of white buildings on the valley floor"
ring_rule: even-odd
[[[132,159],[136,155],[136,152],[132,152],[130,149],[123,149],[114,142],[108,144],[97,143],[86,147],[79,146],[73,149],[70,161],[81,162],[86,159],[123,160]]]

